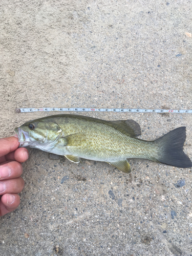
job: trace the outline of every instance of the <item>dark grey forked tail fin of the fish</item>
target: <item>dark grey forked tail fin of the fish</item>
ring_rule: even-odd
[[[158,161],[181,168],[191,167],[192,163],[183,152],[186,138],[186,127],[179,127],[155,140],[159,145]]]

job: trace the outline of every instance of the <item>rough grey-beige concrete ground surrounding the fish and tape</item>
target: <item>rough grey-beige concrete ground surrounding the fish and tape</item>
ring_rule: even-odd
[[[191,7],[1,0],[1,137],[51,115],[15,108],[191,109]],[[148,140],[186,126],[192,158],[191,114],[84,115],[134,119]],[[21,203],[0,220],[1,255],[192,255],[191,168],[138,159],[127,175],[107,163],[29,154]]]

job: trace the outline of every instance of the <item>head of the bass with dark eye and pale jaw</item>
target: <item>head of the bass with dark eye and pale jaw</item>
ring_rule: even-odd
[[[51,151],[61,135],[60,127],[44,118],[26,122],[16,127],[15,132],[19,147],[29,146],[46,152]]]

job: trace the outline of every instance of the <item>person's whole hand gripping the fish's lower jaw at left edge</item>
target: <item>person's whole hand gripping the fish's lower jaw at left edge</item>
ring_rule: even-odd
[[[20,147],[17,135],[0,139],[0,216],[16,209],[20,203],[17,195],[24,188],[22,164],[28,157],[25,147]]]

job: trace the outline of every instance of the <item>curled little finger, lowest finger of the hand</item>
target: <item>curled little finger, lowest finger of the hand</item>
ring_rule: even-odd
[[[20,203],[20,197],[17,194],[5,194],[0,201],[0,216],[8,214],[18,207]]]

